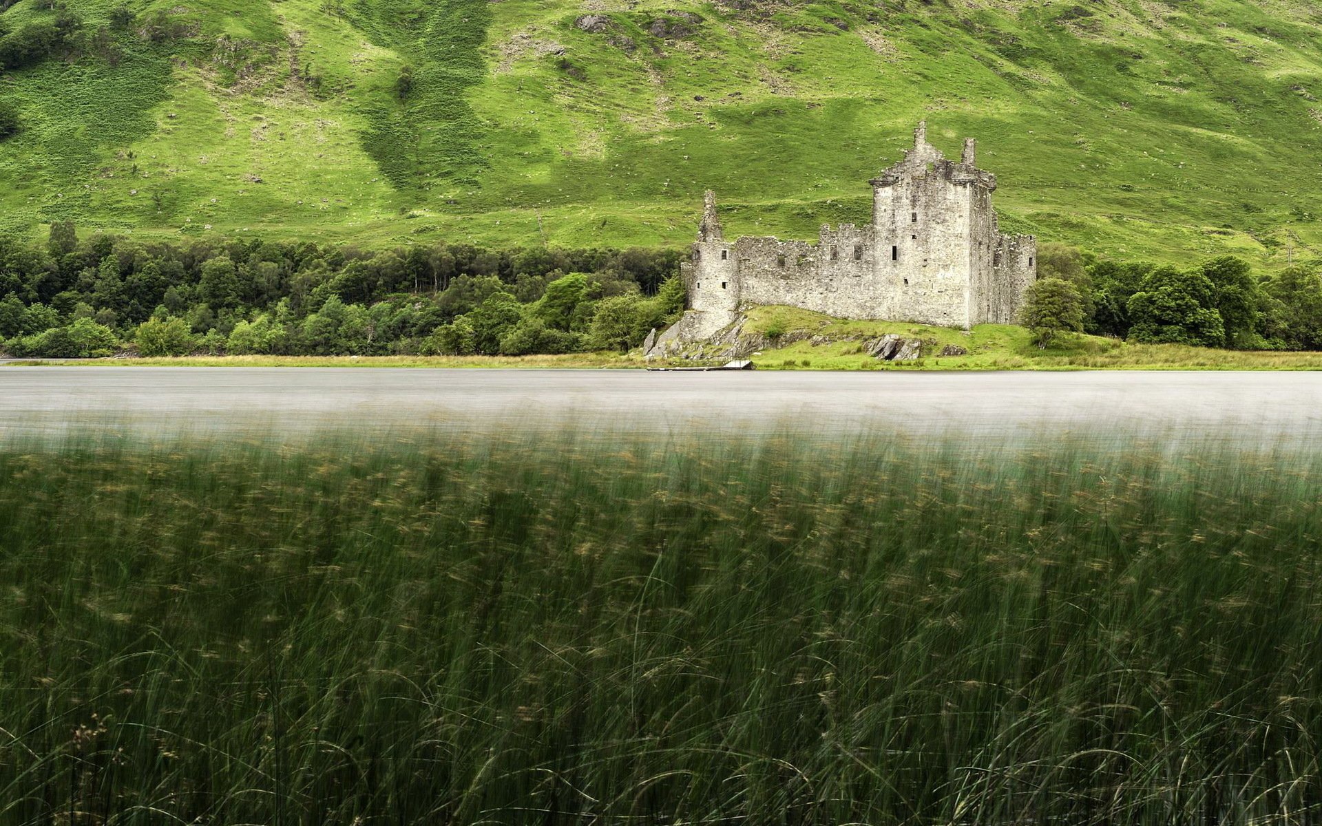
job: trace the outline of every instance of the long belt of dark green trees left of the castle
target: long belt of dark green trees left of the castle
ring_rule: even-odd
[[[140,243],[57,222],[0,238],[0,346],[17,357],[627,350],[683,309],[674,250],[385,251]]]

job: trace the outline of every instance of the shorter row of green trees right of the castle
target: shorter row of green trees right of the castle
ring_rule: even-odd
[[[1310,266],[1255,275],[1235,256],[1173,267],[1042,244],[1022,322],[1040,346],[1075,330],[1151,344],[1317,350],[1322,278]]]

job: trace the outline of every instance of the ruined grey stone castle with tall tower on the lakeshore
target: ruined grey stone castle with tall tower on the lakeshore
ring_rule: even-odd
[[[1015,320],[1036,278],[1036,242],[998,230],[995,176],[977,168],[972,139],[951,161],[920,123],[914,148],[870,182],[871,223],[822,226],[816,244],[728,242],[709,192],[691,260],[681,266],[690,312],[662,338],[705,338],[758,304],[958,328]]]

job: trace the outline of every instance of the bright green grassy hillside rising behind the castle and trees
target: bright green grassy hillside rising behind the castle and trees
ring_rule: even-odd
[[[81,45],[0,74],[24,124],[0,229],[678,244],[711,188],[728,233],[809,238],[867,219],[865,181],[927,118],[948,152],[980,139],[1007,229],[1120,258],[1322,252],[1303,1],[118,5],[69,0]]]

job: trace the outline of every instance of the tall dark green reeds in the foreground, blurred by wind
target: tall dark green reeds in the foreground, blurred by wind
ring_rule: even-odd
[[[1303,822],[1317,460],[0,452],[0,821]]]

